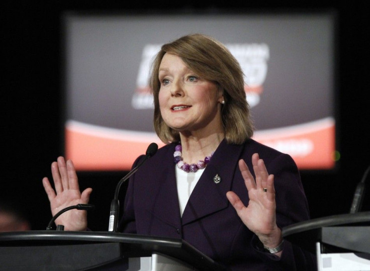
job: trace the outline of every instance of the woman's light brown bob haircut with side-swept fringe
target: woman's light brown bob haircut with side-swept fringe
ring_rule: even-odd
[[[151,64],[149,86],[154,97],[154,129],[165,144],[180,141],[179,132],[167,126],[159,108],[159,65],[165,53],[181,58],[200,77],[216,83],[223,93],[221,118],[228,144],[242,144],[253,135],[253,123],[244,92],[243,71],[230,51],[219,41],[203,34],[183,36],[162,45]]]

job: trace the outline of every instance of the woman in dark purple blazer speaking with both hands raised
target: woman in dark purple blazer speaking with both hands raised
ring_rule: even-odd
[[[232,270],[314,270],[313,255],[282,238],[283,227],[309,219],[299,171],[251,139],[243,73],[227,48],[201,34],[165,44],[150,86],[167,145],[130,178],[120,230],[183,238]],[[59,157],[52,174],[56,194],[43,184],[53,214],[88,202],[71,161]],[[86,229],[80,211],[63,216],[66,230]]]

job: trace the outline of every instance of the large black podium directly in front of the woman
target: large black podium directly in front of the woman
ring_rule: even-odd
[[[143,262],[147,266],[143,267]],[[222,271],[227,268],[182,239],[45,230],[0,233],[0,270]]]

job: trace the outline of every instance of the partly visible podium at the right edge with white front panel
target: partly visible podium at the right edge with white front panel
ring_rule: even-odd
[[[312,219],[282,231],[284,239],[316,253],[319,271],[370,270],[370,212]]]

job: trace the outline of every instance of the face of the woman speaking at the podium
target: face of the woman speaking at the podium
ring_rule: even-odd
[[[166,53],[159,66],[159,107],[164,122],[182,133],[220,131],[222,93],[180,57]]]

